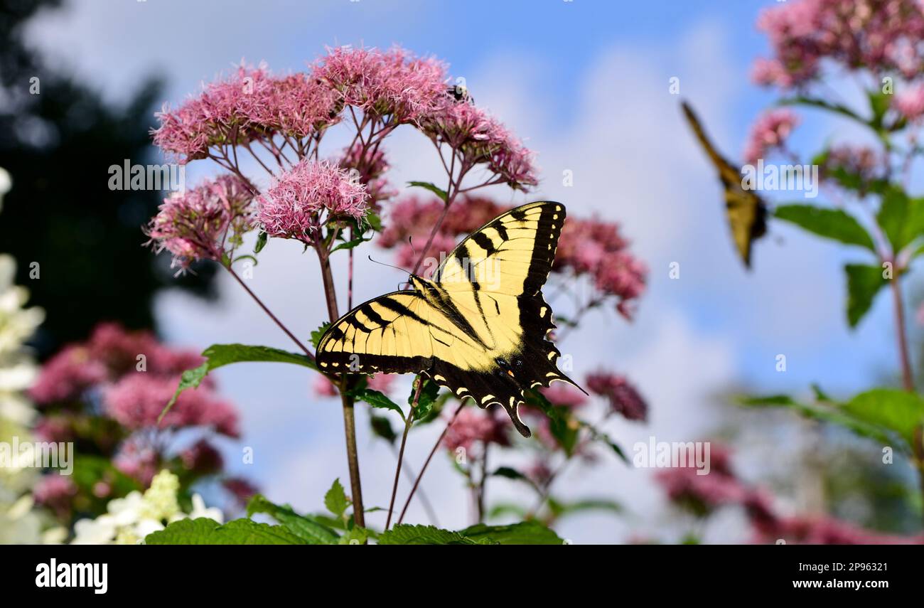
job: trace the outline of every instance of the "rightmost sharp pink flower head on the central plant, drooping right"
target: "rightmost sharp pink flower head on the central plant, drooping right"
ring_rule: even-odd
[[[539,183],[533,153],[500,122],[473,103],[451,95],[420,121],[424,134],[457,154],[463,167],[484,164],[498,183],[526,190]]]

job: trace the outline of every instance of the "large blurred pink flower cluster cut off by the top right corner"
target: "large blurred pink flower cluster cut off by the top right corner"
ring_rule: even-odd
[[[753,67],[753,79],[791,89],[821,74],[825,60],[874,75],[917,78],[924,69],[924,9],[918,0],[796,0],[765,8],[758,29],[773,57]]]

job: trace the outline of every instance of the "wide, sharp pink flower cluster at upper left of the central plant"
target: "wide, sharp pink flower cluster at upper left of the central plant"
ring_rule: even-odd
[[[176,110],[164,106],[154,144],[180,163],[206,158],[213,146],[247,144],[274,133],[302,139],[337,120],[336,95],[306,74],[274,77],[266,67],[238,67]]]

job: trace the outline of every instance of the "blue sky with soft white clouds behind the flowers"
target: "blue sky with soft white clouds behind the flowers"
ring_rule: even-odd
[[[841,266],[861,261],[856,251],[774,224],[757,246],[754,272],[744,272],[714,176],[681,120],[678,98],[668,93],[668,79],[679,77],[682,96],[699,109],[723,152],[739,156],[751,120],[773,100],[772,91],[749,82],[748,70],[767,52],[755,18],[776,4],[125,0],[73,3],[42,18],[30,36],[114,100],[157,73],[167,81],[166,100],[178,103],[241,57],[297,70],[325,45],[400,43],[448,61],[476,101],[539,154],[543,182],[536,194],[498,190],[497,196],[510,202],[548,197],[565,202],[569,213],[619,221],[649,263],[650,289],[636,322],[602,312],[565,346],[578,376],[604,366],[623,371],[649,398],[649,425],[616,421],[610,429],[631,445],[651,434],[666,441],[708,435],[723,422],[714,395],[730,387],[804,393],[817,381],[846,395],[896,370],[887,298],[877,300],[856,332],[846,329]],[[850,131],[805,114],[794,141],[816,152],[832,133]],[[439,176],[413,135],[396,134],[390,150],[396,184]],[[564,169],[575,173],[573,188],[559,184]],[[188,175],[213,171],[201,164]],[[273,243],[262,256],[254,288],[307,334],[323,317],[316,262],[291,243]],[[680,280],[667,277],[671,261],[681,263]],[[400,279],[360,263],[357,297],[383,293]],[[218,306],[164,295],[158,311],[169,339],[195,348],[233,341],[287,347],[234,286],[225,283],[222,290]],[[787,356],[785,373],[775,371],[777,354]],[[319,508],[330,481],[346,479],[338,407],[316,402],[298,370],[257,365],[219,376],[244,411],[243,444],[258,456],[250,467],[229,458],[231,467],[260,481],[275,500]],[[394,460],[368,433],[360,431],[359,441],[367,502],[381,505]],[[431,444],[428,432],[420,432],[409,461],[419,465]],[[227,449],[233,455],[239,445]],[[575,495],[605,488],[638,514],[661,512],[648,471],[609,463],[577,470],[569,484]],[[425,487],[449,513],[441,523],[465,523],[459,485],[445,463],[428,475]],[[498,494],[505,492],[516,495],[509,488]],[[630,530],[662,525],[652,515],[617,524],[581,517],[567,522],[565,533],[575,541],[621,541]]]

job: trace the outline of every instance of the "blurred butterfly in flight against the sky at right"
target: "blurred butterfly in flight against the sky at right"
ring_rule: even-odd
[[[750,268],[751,246],[767,232],[767,204],[753,190],[742,188],[740,170],[716,151],[699,123],[699,118],[693,113],[693,108],[687,102],[683,102],[683,108],[690,128],[719,172],[732,238],[741,260]]]

